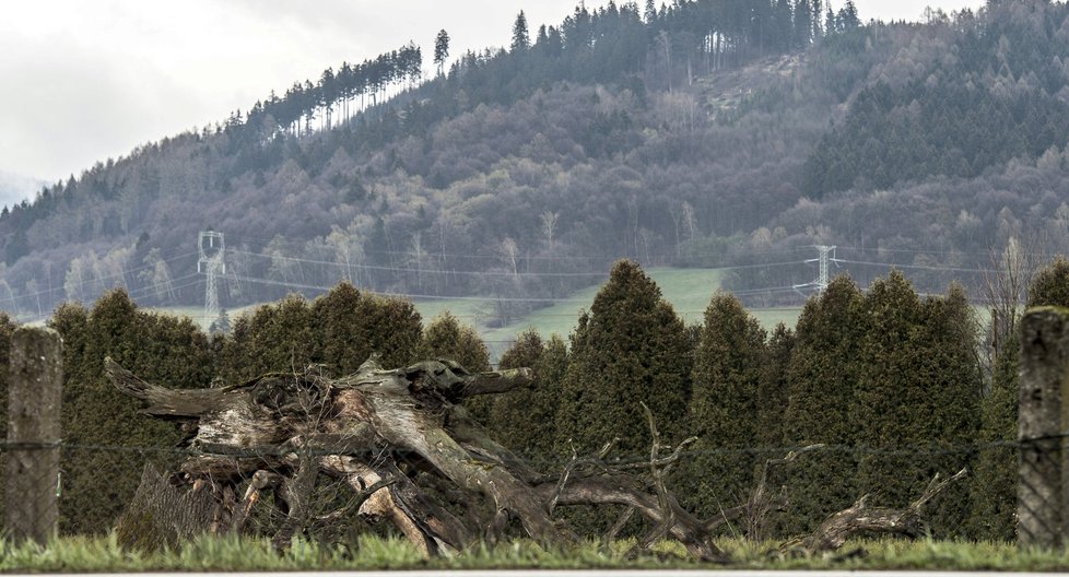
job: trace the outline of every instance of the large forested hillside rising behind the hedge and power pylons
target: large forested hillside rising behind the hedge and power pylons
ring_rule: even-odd
[[[348,278],[509,314],[620,257],[749,267],[729,281],[749,302],[800,301],[814,244],[862,286],[896,263],[975,288],[1010,237],[1069,249],[1067,15],[610,2],[538,31],[519,14],[509,47],[455,60],[443,31],[431,61],[332,66],[4,208],[0,308],[116,285],[197,304],[204,229],[226,235],[225,306]]]

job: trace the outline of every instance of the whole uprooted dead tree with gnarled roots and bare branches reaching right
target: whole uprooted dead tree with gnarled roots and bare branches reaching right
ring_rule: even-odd
[[[110,358],[105,367],[121,392],[146,402],[143,413],[176,421],[188,434],[189,454],[177,470],[160,474],[146,468],[120,520],[120,526],[132,523],[133,532],[148,523],[166,541],[243,532],[259,509],[271,508],[281,518],[273,534],[280,547],[295,534],[354,515],[392,521],[428,556],[497,540],[509,518],[543,546],[567,546],[578,539],[554,519],[557,507],[622,505],[625,513],[608,537],[637,513],[647,532],[635,551],[668,538],[701,560],[726,561],[712,540],[718,527],[784,505],[762,475],[747,503],[712,519],[683,509],[665,479],[693,439],[663,454],[670,447],[661,444],[648,410],[654,438],[648,459],[610,462],[610,441],[598,455],[574,456],[560,471],[533,470],[495,443],[463,407],[474,396],[532,386],[534,375],[527,368],[470,374],[449,361],[428,361],[384,369],[373,356],[338,379],[308,370],[175,390],[145,382]],[[796,457],[772,460],[765,469]],[[313,507],[315,487],[324,480],[351,487],[350,498],[339,499],[334,510]],[[822,526],[819,532],[908,534],[935,493],[900,511],[908,527],[892,509],[881,511],[882,525],[879,519],[857,525],[856,515],[843,511],[825,522],[833,528]],[[841,545],[842,540],[815,534],[791,544],[806,553]]]

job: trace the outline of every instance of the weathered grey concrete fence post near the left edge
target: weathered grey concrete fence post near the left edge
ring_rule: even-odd
[[[59,522],[56,483],[63,387],[59,333],[16,329],[11,338],[10,370],[4,521],[11,539],[45,543]]]

